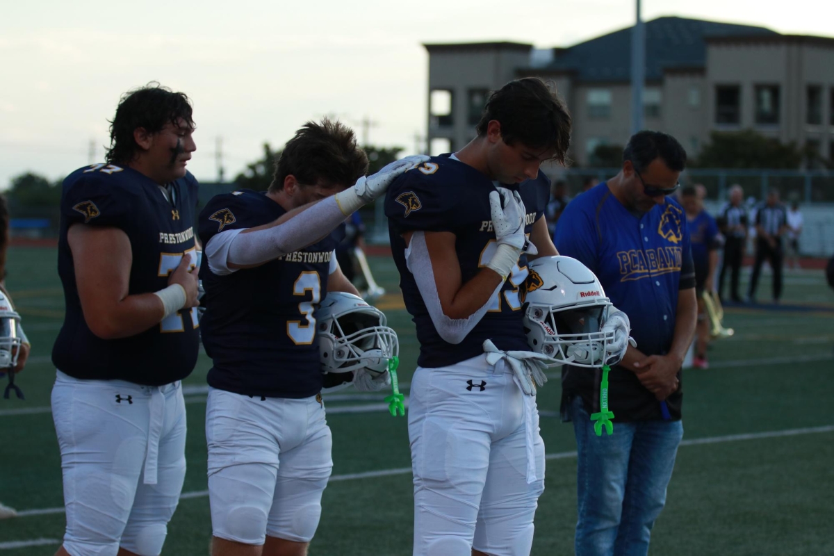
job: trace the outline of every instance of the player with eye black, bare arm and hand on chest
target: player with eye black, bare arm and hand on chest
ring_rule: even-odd
[[[60,556],[153,556],[185,478],[180,380],[198,352],[188,97],[125,95],[106,162],[63,182],[66,314],[52,409],[67,529]]]

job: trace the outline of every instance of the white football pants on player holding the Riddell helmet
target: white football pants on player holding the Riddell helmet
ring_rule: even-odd
[[[530,554],[545,443],[535,398],[504,360],[417,368],[409,438],[415,556]]]

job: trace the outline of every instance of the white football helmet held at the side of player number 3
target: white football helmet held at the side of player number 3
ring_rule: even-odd
[[[359,368],[382,374],[388,369],[389,358],[399,355],[397,333],[386,325],[384,313],[353,293],[329,292],[314,317],[322,372],[350,373],[325,376],[325,391],[346,388]]]

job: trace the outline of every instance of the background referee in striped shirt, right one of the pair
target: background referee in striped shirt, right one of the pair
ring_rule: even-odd
[[[753,263],[753,275],[747,300],[756,303],[756,286],[759,283],[761,265],[765,259],[770,261],[773,269],[773,303],[779,303],[781,297],[782,275],[782,236],[787,231],[787,210],[779,203],[779,192],[771,189],[767,200],[756,211],[756,262]]]

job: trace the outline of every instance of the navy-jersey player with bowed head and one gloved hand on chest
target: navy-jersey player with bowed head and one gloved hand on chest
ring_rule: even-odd
[[[477,133],[409,170],[385,199],[420,341],[409,438],[421,555],[529,554],[544,489],[535,388],[550,359],[527,351],[519,288],[523,251],[558,254],[540,165],[565,162],[570,115],[552,88],[524,78],[490,96]]]

